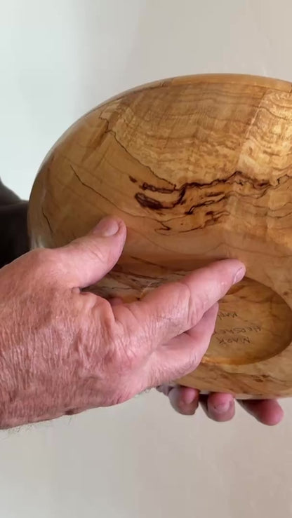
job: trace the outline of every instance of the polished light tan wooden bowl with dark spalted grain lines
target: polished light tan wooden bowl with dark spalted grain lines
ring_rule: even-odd
[[[93,291],[125,300],[214,259],[246,264],[211,346],[182,383],[292,395],[292,85],[253,76],[168,79],[82,117],[41,165],[32,247],[126,222],[119,264]]]

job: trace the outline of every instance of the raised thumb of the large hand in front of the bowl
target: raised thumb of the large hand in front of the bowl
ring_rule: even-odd
[[[59,248],[66,284],[85,288],[98,282],[119,260],[125,241],[124,221],[106,217],[87,236]]]

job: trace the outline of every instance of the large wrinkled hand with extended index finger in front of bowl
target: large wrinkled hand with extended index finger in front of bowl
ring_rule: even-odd
[[[133,304],[81,291],[112,269],[125,239],[124,223],[107,218],[0,270],[0,428],[118,404],[199,364],[217,301],[244,266],[218,261]]]

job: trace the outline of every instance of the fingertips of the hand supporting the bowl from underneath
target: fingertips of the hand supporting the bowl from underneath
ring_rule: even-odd
[[[168,396],[175,411],[185,416],[192,416],[199,405],[204,409],[206,416],[219,423],[230,421],[235,414],[235,400],[230,394],[200,395],[199,390],[195,388],[168,384],[157,387],[157,390]],[[238,400],[238,402],[248,414],[264,425],[277,425],[284,416],[276,400]]]

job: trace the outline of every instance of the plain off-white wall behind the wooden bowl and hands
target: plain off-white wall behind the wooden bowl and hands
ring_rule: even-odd
[[[291,0],[0,0],[0,175],[28,196],[84,111],[166,76],[292,80]],[[218,425],[155,392],[0,435],[0,517],[286,518],[292,407]]]

